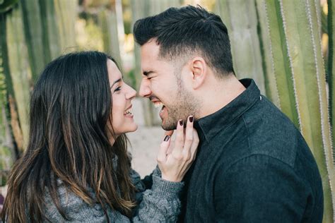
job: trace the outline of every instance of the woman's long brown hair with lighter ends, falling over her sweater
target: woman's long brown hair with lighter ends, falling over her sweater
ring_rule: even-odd
[[[112,123],[108,58],[101,52],[66,54],[42,72],[30,100],[28,147],[11,171],[2,221],[45,220],[46,191],[71,220],[61,208],[57,179],[86,203],[100,203],[105,214],[109,206],[131,216],[127,137],[120,135],[113,145],[108,138],[113,135],[107,127]]]

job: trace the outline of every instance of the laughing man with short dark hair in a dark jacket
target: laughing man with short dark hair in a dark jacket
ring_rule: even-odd
[[[237,80],[227,28],[204,8],[169,8],[134,25],[139,94],[165,130],[194,115],[200,144],[181,222],[322,222],[322,181],[293,123],[253,80]]]

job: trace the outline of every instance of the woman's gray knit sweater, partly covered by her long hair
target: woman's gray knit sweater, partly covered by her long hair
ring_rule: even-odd
[[[116,210],[107,208],[107,215],[110,222],[176,222],[177,215],[180,213],[179,193],[184,183],[170,182],[161,179],[159,169],[153,171],[153,186],[151,190],[146,190],[139,174],[131,170],[131,179],[139,193],[136,199],[139,206],[136,207],[136,215],[133,219],[122,215]],[[81,198],[66,190],[65,186],[59,181],[58,194],[61,207],[66,212],[66,216],[71,222],[107,222],[105,213],[101,205],[89,205]],[[45,216],[51,222],[66,222],[59,214],[56,205],[52,202],[49,193],[45,195]]]

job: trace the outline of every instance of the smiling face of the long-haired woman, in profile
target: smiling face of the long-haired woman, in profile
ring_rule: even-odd
[[[136,90],[123,82],[122,74],[117,65],[107,59],[108,78],[112,93],[112,127],[115,135],[136,131],[137,124],[131,114],[131,100]]]

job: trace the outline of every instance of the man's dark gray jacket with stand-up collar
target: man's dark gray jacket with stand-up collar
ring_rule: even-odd
[[[185,176],[181,222],[322,222],[322,180],[293,123],[253,80],[196,124],[201,145]]]

